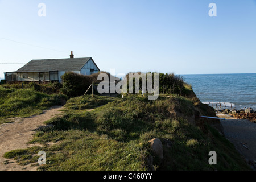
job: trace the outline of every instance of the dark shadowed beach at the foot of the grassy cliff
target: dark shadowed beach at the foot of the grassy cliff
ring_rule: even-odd
[[[234,144],[252,169],[256,170],[256,123],[245,119],[221,121],[225,137]]]

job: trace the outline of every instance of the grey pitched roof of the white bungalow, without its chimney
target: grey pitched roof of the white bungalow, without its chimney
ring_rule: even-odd
[[[92,57],[31,60],[16,72],[80,71],[89,60]]]

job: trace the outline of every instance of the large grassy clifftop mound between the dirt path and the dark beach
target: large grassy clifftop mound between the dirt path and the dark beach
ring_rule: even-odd
[[[47,121],[53,126],[38,131],[30,142],[46,146],[47,164],[38,169],[147,170],[146,159],[152,155],[158,170],[250,170],[233,144],[207,122],[189,122],[197,105],[192,98],[169,96],[72,98],[65,114]],[[162,161],[150,150],[152,138],[163,143]],[[211,166],[212,150],[217,152],[217,165]],[[31,152],[23,150],[6,155],[22,163],[31,161]]]

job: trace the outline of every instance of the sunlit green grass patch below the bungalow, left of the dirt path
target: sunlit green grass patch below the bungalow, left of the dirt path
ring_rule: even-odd
[[[30,117],[40,114],[54,105],[60,105],[61,94],[44,94],[32,88],[15,89],[0,87],[0,124],[9,122],[11,117]]]

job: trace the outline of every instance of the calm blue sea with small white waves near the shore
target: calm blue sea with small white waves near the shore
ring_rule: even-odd
[[[192,85],[201,102],[214,107],[225,106],[230,109],[251,107],[256,110],[256,73],[253,74],[213,74],[181,75]]]

